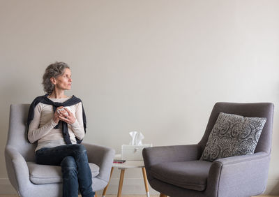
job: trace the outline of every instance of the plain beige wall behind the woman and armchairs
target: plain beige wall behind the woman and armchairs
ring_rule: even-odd
[[[116,152],[129,131],[153,145],[197,143],[217,101],[275,103],[266,193],[279,194],[279,1],[0,0],[0,193],[9,105],[42,95],[54,61],[72,68],[85,141]],[[126,178],[124,192],[144,193],[140,171]],[[113,182],[112,193],[117,172]]]

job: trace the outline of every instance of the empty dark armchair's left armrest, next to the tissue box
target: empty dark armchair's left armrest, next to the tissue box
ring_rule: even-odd
[[[201,154],[202,149],[199,145],[148,147],[142,150],[145,168],[168,161],[197,160]]]

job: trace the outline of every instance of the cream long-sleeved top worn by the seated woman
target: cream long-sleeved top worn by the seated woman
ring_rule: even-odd
[[[53,102],[63,103],[70,99],[70,97],[65,99],[50,99]],[[70,106],[70,111],[75,117],[75,122],[73,124],[68,124],[68,132],[70,135],[70,141],[72,144],[76,144],[77,139],[82,140],[84,138],[84,127],[82,119],[82,103],[77,103]],[[56,147],[59,145],[66,145],[63,139],[61,126],[59,129],[54,129],[56,123],[53,120],[54,111],[52,105],[47,105],[44,103],[38,103],[34,108],[34,117],[29,124],[28,139],[30,143],[35,143],[38,141],[38,146],[35,151],[43,147]]]

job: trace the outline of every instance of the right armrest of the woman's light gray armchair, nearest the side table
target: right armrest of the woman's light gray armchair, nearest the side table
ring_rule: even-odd
[[[110,180],[110,170],[114,159],[115,150],[110,147],[82,143],[86,147],[88,161],[100,167],[98,178],[108,182]]]

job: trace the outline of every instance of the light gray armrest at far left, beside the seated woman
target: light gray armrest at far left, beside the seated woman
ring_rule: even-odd
[[[7,145],[5,149],[5,160],[8,177],[13,187],[17,191],[19,188],[27,187],[27,184],[30,184],[29,169],[22,154],[17,149]]]

